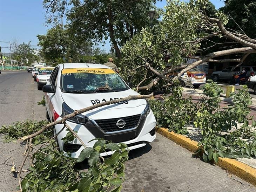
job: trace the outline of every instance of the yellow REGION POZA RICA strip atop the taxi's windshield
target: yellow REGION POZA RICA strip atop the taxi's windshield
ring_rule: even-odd
[[[101,69],[101,68],[76,68],[76,69],[62,69],[61,74],[69,73],[94,73],[94,74],[113,74],[115,73],[112,69]]]

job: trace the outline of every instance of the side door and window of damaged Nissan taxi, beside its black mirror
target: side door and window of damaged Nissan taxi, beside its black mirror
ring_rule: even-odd
[[[49,83],[52,84],[54,86],[54,89],[56,90],[57,88],[57,82],[58,82],[58,73],[59,73],[59,67],[56,67],[49,79]],[[51,119],[51,121],[53,121],[53,116],[54,116],[54,107],[53,107],[53,101],[56,100],[55,98],[55,93],[46,93],[46,99],[47,99],[47,111],[48,111],[48,115]]]

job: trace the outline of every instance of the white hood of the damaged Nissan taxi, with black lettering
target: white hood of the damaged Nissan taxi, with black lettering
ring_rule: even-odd
[[[70,94],[62,93],[63,101],[73,110],[90,107],[97,103],[124,98],[129,95],[139,95],[136,91],[128,89],[119,92],[95,93],[95,94]],[[93,119],[106,119],[141,114],[146,107],[146,100],[130,100],[117,104],[105,105],[93,110],[84,112],[82,115]]]

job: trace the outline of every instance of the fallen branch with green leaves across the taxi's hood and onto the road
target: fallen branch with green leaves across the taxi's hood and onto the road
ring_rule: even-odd
[[[122,183],[124,181],[124,162],[128,159],[128,147],[124,143],[115,144],[108,142],[101,138],[96,138],[97,140],[92,148],[86,147],[83,144],[81,138],[73,131],[66,123],[66,121],[83,112],[102,107],[109,104],[114,104],[122,101],[136,100],[136,99],[146,99],[150,98],[150,95],[136,95],[128,96],[122,99],[107,101],[104,103],[99,103],[87,108],[83,108],[73,112],[72,114],[64,116],[61,120],[43,124],[41,129],[34,129],[33,131],[28,131],[31,128],[33,122],[27,121],[24,123],[17,122],[16,125],[11,126],[9,131],[6,126],[2,127],[2,132],[7,132],[9,137],[18,138],[22,137],[23,140],[27,140],[25,159],[20,166],[18,172],[19,188],[21,191],[120,191]],[[52,126],[56,124],[63,124],[63,129],[65,127],[69,130],[65,139],[67,141],[72,141],[75,138],[80,140],[84,149],[81,151],[77,159],[65,157],[63,152],[59,152],[56,145],[56,140],[54,139],[56,135],[62,131],[59,131],[54,137],[45,137],[44,142],[47,145],[42,145],[40,149],[36,149],[33,145],[36,145],[35,138],[40,137],[45,134],[45,132],[51,131]],[[25,126],[23,126],[25,125]],[[38,124],[42,125],[42,124]],[[40,126],[41,127],[41,126]],[[19,131],[19,134],[15,135],[15,130]],[[35,132],[36,131],[36,132]],[[30,135],[28,135],[30,134]],[[40,142],[41,143],[41,142]],[[46,146],[42,148],[43,146]],[[29,172],[25,178],[21,181],[21,172],[27,158],[31,155],[29,153],[35,149],[36,152],[32,155],[32,166],[30,167],[31,172]],[[101,153],[106,151],[113,151],[113,155],[107,159],[101,157]],[[89,169],[87,172],[78,172],[75,168],[75,164],[83,162],[88,158]]]

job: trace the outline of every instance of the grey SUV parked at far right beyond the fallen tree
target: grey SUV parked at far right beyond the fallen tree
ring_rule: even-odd
[[[238,66],[235,69],[234,66],[227,67],[223,69],[222,71],[215,71],[211,74],[211,77],[213,78],[213,81],[219,81],[219,80],[230,80],[231,77],[235,73],[241,72],[242,67],[244,67],[247,70],[247,77],[250,77],[254,74],[256,74],[256,67],[255,66]]]

